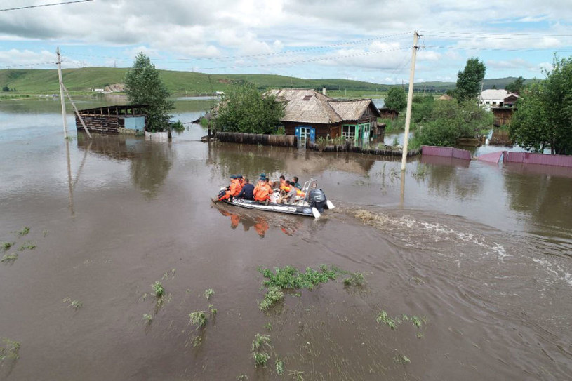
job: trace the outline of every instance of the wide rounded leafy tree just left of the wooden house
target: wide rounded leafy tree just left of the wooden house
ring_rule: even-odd
[[[262,94],[252,83],[232,86],[220,102],[217,128],[241,133],[276,133],[284,116],[284,104],[274,95]]]

